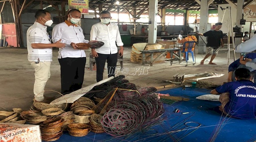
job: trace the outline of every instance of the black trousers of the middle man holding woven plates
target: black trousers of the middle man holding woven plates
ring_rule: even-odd
[[[82,88],[86,57],[61,58],[61,93],[67,94]]]

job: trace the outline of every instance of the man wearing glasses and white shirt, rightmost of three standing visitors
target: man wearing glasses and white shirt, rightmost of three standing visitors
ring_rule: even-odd
[[[111,23],[111,14],[109,11],[100,12],[100,23],[94,24],[90,33],[90,40],[104,42],[99,49],[91,49],[92,56],[96,62],[96,80],[103,80],[103,71],[105,62],[108,63],[108,77],[115,76],[115,68],[117,63],[117,54],[123,56],[123,42],[116,24]],[[120,47],[117,53],[117,46]]]

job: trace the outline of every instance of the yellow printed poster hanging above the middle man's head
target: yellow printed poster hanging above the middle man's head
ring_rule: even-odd
[[[69,10],[78,9],[82,14],[89,14],[88,0],[69,0]]]

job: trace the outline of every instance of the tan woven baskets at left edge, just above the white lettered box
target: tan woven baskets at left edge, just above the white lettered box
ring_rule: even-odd
[[[26,120],[19,117],[22,111],[20,108],[13,108],[11,112],[0,111],[0,123],[25,124]]]

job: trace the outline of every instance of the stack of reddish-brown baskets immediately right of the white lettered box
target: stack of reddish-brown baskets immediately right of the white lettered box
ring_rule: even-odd
[[[63,119],[61,117],[51,118],[40,124],[42,140],[56,141],[63,134]]]

